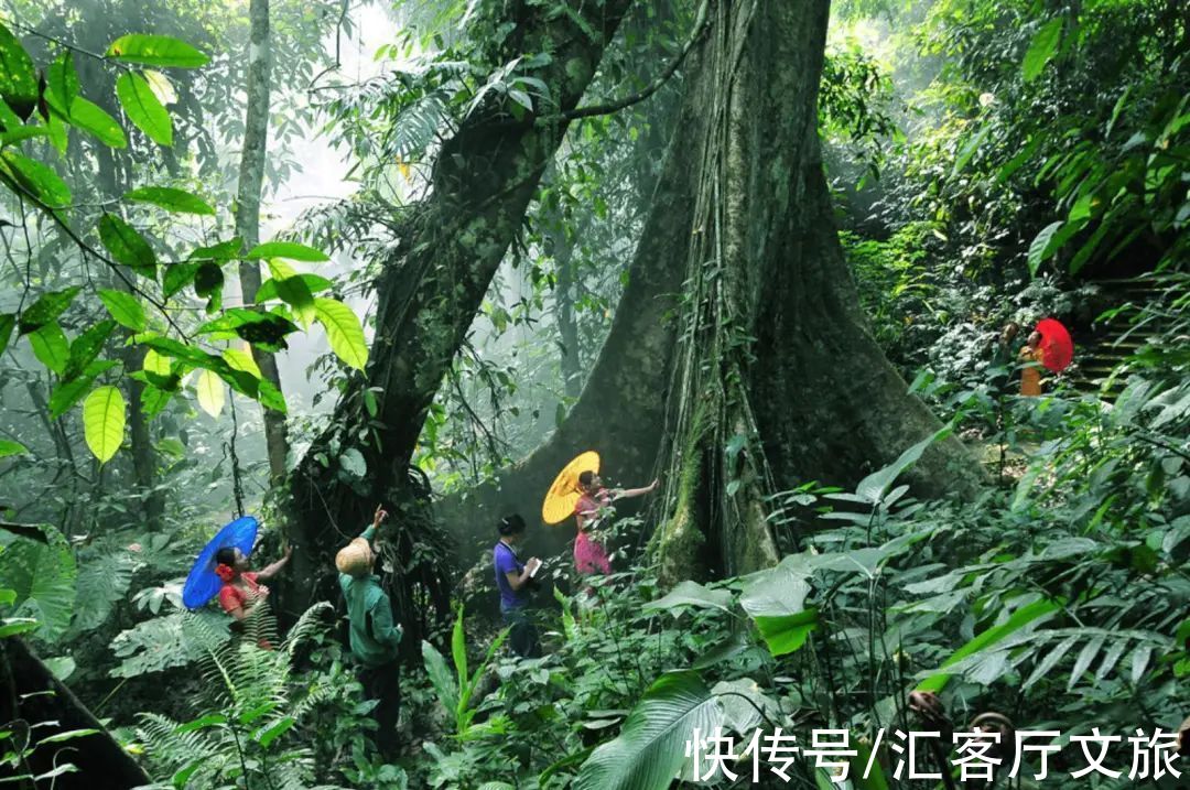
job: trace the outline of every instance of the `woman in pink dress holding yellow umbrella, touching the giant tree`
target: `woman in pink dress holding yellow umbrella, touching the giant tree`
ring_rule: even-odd
[[[657,490],[658,481],[645,488],[603,488],[599,476],[599,453],[588,451],[566,464],[545,496],[541,518],[546,523],[560,523],[574,514],[578,525],[575,538],[575,569],[583,575],[610,573],[607,550],[596,539],[595,529],[616,500],[643,496]]]

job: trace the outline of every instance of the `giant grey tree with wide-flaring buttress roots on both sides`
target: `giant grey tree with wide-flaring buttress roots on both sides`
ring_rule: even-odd
[[[710,4],[583,395],[532,457],[452,501],[456,521],[536,501],[594,447],[620,479],[669,468],[654,548],[670,579],[745,572],[777,557],[764,497],[778,484],[857,481],[941,428],[872,339],[837,237],[816,125],[827,17],[827,2]],[[954,439],[914,474],[928,494],[977,481]]]

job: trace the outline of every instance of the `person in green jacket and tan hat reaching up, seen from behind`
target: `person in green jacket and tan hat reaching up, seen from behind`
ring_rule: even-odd
[[[401,626],[394,625],[388,595],[380,585],[380,577],[372,573],[376,550],[371,543],[386,518],[388,513],[377,506],[371,526],[339,550],[334,565],[339,569],[339,587],[346,601],[351,653],[359,663],[359,682],[364,696],[377,701],[372,709],[378,725],[377,746],[389,757],[396,745],[396,722],[401,713],[397,664]]]

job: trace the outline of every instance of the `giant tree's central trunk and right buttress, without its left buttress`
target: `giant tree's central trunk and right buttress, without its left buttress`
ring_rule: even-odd
[[[828,0],[720,4],[696,80],[704,115],[689,291],[670,391],[663,578],[772,563],[764,497],[851,483],[941,427],[907,394],[859,307],[822,171],[816,98]],[[915,468],[923,494],[973,490],[954,439]]]

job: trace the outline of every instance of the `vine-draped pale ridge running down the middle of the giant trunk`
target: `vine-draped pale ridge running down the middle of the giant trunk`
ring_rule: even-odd
[[[733,143],[733,86],[741,79],[744,42],[757,4],[743,8],[715,4],[699,76],[704,95],[700,177],[694,194],[691,243],[678,338],[670,384],[666,435],[665,507],[671,514],[654,534],[652,548],[662,578],[739,572],[776,562],[765,523],[764,496],[776,490],[745,387],[749,336],[743,319],[745,283],[738,270],[738,218],[729,217]],[[703,551],[707,541],[718,547]],[[708,547],[709,548],[709,547]],[[726,560],[721,564],[713,557]],[[707,558],[707,559],[701,559]],[[721,566],[722,565],[722,566]]]

